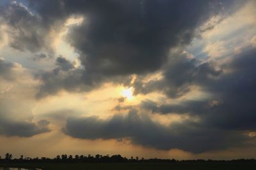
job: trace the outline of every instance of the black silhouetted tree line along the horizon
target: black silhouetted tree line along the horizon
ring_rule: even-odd
[[[12,159],[11,153],[6,153],[4,158],[0,157],[0,163],[78,163],[78,162],[90,162],[90,163],[177,163],[177,162],[198,162],[198,163],[206,163],[206,162],[235,162],[235,163],[256,163],[256,159],[234,159],[234,160],[204,160],[204,159],[196,159],[196,160],[175,160],[175,159],[144,159],[141,157],[122,157],[121,155],[95,155],[94,157],[92,155],[57,155],[53,159],[47,158],[47,157],[41,157],[41,158],[30,158],[30,157],[24,157],[24,155],[20,155],[19,159]]]

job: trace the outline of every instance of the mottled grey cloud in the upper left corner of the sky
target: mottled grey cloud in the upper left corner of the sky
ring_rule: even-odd
[[[4,22],[9,25],[10,46],[17,50],[38,52],[46,46],[46,30],[40,24],[40,18],[19,3],[4,6]]]

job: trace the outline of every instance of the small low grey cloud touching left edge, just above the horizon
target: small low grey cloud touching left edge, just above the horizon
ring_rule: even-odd
[[[50,132],[47,120],[40,120],[36,124],[33,122],[15,122],[13,120],[0,121],[0,134],[5,136],[31,137],[36,134]]]

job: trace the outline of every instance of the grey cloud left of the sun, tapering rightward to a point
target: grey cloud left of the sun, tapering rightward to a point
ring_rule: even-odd
[[[38,99],[57,94],[60,90],[86,92],[99,88],[104,82],[121,84],[131,81],[131,76],[104,77],[95,73],[87,74],[83,68],[75,68],[69,60],[63,57],[56,59],[56,68],[42,74],[37,74],[36,78],[42,81],[42,85],[40,85],[36,94]]]

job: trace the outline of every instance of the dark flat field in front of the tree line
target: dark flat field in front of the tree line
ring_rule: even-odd
[[[191,162],[177,162],[177,163],[31,163],[31,164],[0,164],[0,167],[26,167],[26,168],[40,168],[40,169],[170,169],[170,170],[236,170],[236,169],[256,169],[256,163],[191,163]]]

